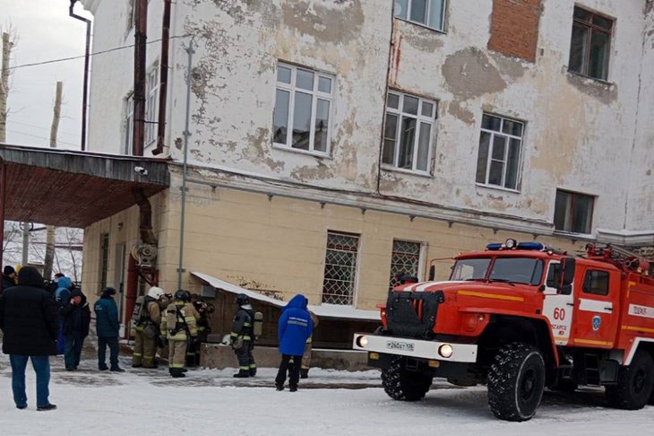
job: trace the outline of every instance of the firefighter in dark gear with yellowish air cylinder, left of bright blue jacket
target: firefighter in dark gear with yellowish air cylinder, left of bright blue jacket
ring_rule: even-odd
[[[250,298],[245,293],[237,295],[237,314],[234,316],[232,331],[229,334],[234,353],[237,354],[238,372],[236,378],[254,377],[256,363],[252,350],[254,349],[254,311]]]

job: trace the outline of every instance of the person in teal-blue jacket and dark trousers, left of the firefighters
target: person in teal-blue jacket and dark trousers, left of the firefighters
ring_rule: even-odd
[[[107,345],[109,345],[109,363],[111,371],[125,372],[118,366],[118,331],[120,320],[118,319],[118,308],[113,296],[116,295],[114,288],[106,288],[102,291],[99,300],[93,305],[96,318],[96,332],[98,333],[98,368],[99,371],[107,371]]]

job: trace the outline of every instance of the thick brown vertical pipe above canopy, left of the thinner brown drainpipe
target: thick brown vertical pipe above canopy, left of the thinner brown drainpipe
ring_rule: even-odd
[[[134,0],[134,156],[143,155],[145,140],[145,56],[148,34],[148,0]]]

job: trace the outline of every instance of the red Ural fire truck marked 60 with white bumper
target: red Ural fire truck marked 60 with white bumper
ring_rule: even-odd
[[[353,347],[382,369],[398,400],[425,397],[435,377],[486,384],[496,417],[526,421],[545,387],[604,386],[608,405],[654,404],[654,278],[624,249],[575,257],[506,240],[455,258],[449,281],[405,283],[374,334]]]

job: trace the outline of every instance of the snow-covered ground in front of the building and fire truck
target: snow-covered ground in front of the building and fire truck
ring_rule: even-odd
[[[574,397],[547,392],[534,419],[498,421],[486,406],[486,389],[452,388],[436,382],[424,401],[393,401],[380,388],[377,371],[313,369],[296,393],[273,388],[275,371],[254,379],[234,371],[191,370],[170,379],[165,368],[122,374],[96,371],[85,360],[66,372],[51,358],[50,400],[58,408],[36,412],[34,371],[28,366],[29,406],[13,405],[11,370],[0,354],[0,432],[6,435],[603,435],[649,434],[654,407],[634,412],[607,408],[601,389]]]

